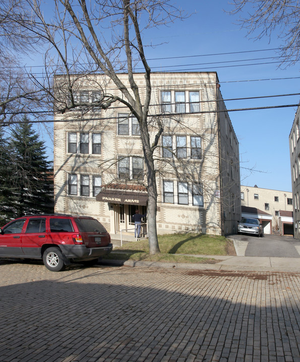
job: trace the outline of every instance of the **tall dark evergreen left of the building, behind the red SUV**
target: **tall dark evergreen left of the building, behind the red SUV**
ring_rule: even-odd
[[[12,130],[11,147],[15,159],[15,217],[27,213],[53,213],[51,162],[47,161],[44,142],[24,117]]]

